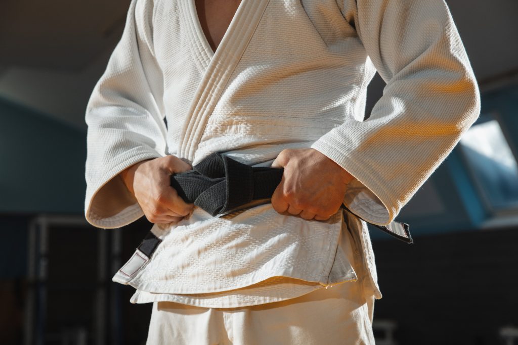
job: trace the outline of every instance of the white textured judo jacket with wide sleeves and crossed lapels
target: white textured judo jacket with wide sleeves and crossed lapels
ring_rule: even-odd
[[[383,96],[363,121],[367,85]],[[88,103],[85,217],[117,228],[143,212],[118,174],[149,158],[195,165],[224,152],[268,166],[285,148],[312,147],[356,179],[344,204],[391,223],[477,119],[480,96],[443,0],[242,0],[217,51],[194,0],[133,0],[122,38]],[[167,127],[164,123],[167,120]],[[113,277],[133,303],[237,307],[354,281],[344,227],[357,234],[381,298],[365,221],[202,209],[153,227]]]

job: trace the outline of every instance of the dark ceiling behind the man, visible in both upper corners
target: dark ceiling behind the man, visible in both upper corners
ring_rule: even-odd
[[[518,1],[447,3],[481,90],[515,80]],[[85,129],[86,103],[122,34],[129,4],[129,0],[0,2],[0,98]],[[377,78],[369,92],[381,95],[382,87]],[[369,97],[367,108],[375,101]]]

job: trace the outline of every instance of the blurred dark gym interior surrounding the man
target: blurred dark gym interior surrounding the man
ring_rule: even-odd
[[[0,2],[0,344],[145,343],[151,304],[111,277],[152,224],[83,217],[84,110],[129,3]],[[380,345],[518,344],[518,2],[447,3],[482,114],[397,217],[415,244],[371,231]]]

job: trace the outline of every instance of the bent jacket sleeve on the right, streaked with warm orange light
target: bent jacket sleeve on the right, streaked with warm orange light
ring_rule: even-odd
[[[394,220],[480,114],[480,94],[443,0],[342,0],[386,86],[365,121],[312,144],[356,179],[344,204],[378,225]]]

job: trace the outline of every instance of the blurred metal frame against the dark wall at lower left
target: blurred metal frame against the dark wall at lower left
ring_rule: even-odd
[[[49,258],[49,235],[54,227],[91,228],[97,231],[97,288],[95,296],[94,334],[88,337],[84,328],[69,329],[56,335],[48,335],[46,328],[47,279]],[[39,215],[29,224],[28,229],[28,290],[25,304],[24,345],[44,345],[46,337],[61,344],[104,345],[107,342],[107,325],[111,325],[110,344],[122,343],[120,315],[120,291],[117,284],[108,284],[107,268],[117,271],[121,265],[122,230],[96,229],[82,216]],[[108,266],[108,260],[110,264]],[[108,306],[107,313],[107,301]],[[108,320],[108,317],[110,318]],[[109,322],[109,323],[108,323]],[[50,339],[47,339],[50,340]],[[89,341],[90,340],[90,341]]]

